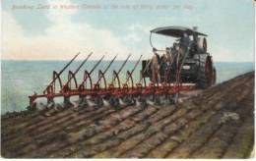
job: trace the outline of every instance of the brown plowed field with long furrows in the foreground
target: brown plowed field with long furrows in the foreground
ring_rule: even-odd
[[[6,114],[1,118],[1,154],[246,158],[254,144],[253,88],[254,73],[249,73],[184,93],[176,105],[58,107]]]

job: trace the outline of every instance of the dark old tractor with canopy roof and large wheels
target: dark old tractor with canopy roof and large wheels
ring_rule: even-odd
[[[163,50],[154,47],[152,34],[161,34],[174,38],[171,46]],[[160,79],[158,83],[195,83],[198,88],[205,89],[216,83],[216,68],[213,58],[207,50],[207,34],[197,31],[197,27],[158,27],[151,30],[151,46],[160,56]],[[164,54],[168,59],[164,59]],[[142,61],[143,78],[154,81],[152,59]]]

